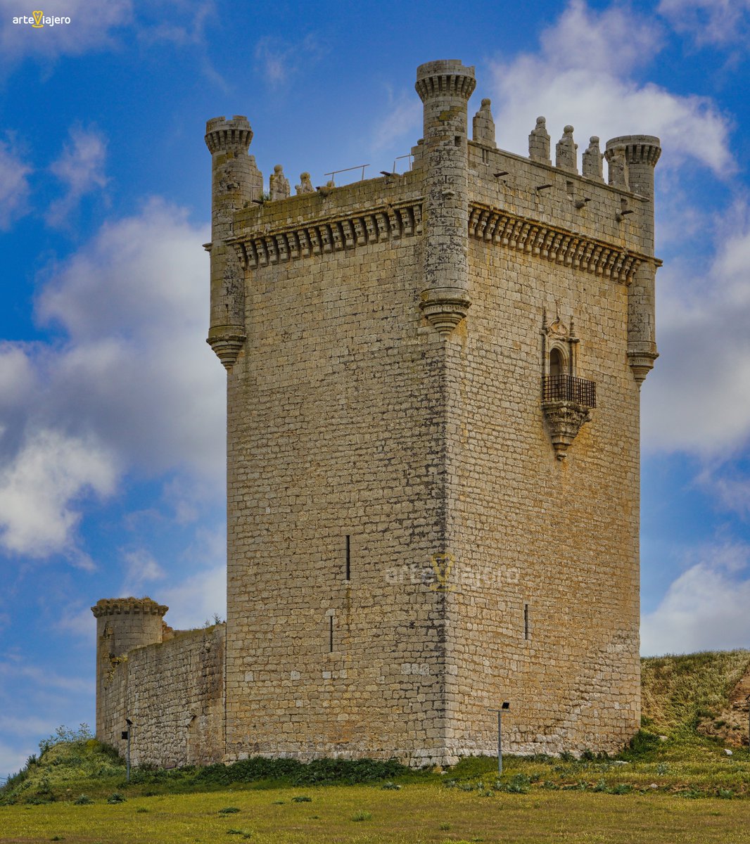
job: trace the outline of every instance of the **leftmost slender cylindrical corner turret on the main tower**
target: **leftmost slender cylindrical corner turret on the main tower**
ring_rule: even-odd
[[[233,246],[234,215],[263,192],[263,176],[247,154],[253,130],[247,117],[206,122],[211,153],[211,318],[208,342],[227,370],[245,342],[245,275]]]

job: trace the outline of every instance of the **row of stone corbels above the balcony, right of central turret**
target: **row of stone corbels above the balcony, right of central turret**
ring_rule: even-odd
[[[486,243],[507,246],[518,252],[587,273],[603,275],[622,284],[630,284],[644,261],[660,266],[654,257],[634,252],[593,237],[526,219],[499,208],[471,203],[469,235]]]

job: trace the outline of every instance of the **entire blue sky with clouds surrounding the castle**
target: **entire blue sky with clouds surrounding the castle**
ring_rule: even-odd
[[[98,598],[224,614],[224,385],[204,124],[266,178],[390,169],[416,66],[476,65],[497,143],[659,135],[644,653],[750,645],[750,2],[0,0],[0,776],[94,722]]]

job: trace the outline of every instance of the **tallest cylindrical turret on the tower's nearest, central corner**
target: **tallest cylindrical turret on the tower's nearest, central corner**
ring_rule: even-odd
[[[474,68],[457,59],[427,62],[416,71],[424,106],[422,167],[427,227],[421,310],[442,337],[470,306],[466,240],[469,225],[468,102]]]

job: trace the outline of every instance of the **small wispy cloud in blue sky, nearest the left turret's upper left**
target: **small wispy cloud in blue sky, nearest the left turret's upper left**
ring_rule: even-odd
[[[65,225],[81,197],[97,188],[103,189],[107,183],[104,135],[93,127],[84,129],[79,126],[71,127],[69,134],[70,143],[50,166],[66,189],[65,195],[47,209],[45,219],[52,226]]]

